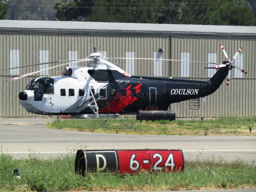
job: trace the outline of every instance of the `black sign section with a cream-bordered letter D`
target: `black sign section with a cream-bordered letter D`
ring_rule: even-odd
[[[86,173],[117,173],[117,156],[114,151],[84,151]]]

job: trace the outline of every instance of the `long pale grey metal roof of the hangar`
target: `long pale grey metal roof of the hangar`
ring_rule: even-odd
[[[256,36],[256,26],[0,20],[0,31]]]

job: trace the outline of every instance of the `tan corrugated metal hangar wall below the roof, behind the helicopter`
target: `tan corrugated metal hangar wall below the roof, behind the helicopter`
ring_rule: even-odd
[[[223,43],[227,54],[232,58],[240,46],[243,47],[243,65],[248,71],[243,78],[232,79],[230,86],[222,84],[214,94],[200,99],[199,109],[190,109],[190,102],[172,104],[171,110],[177,116],[256,116],[255,38],[218,38],[203,36],[147,36],[147,35],[89,35],[89,34],[50,34],[50,33],[0,33],[0,68],[10,67],[10,50],[19,50],[20,66],[36,64],[40,61],[40,50],[49,50],[49,62],[68,60],[68,51],[78,51],[78,58],[85,58],[93,52],[106,51],[107,57],[125,57],[126,52],[135,52],[136,58],[153,58],[154,52],[163,48],[163,59],[181,59],[182,53],[189,53],[190,60],[208,61],[209,53],[217,54],[217,62],[225,60],[220,49]],[[125,60],[113,60],[125,69]],[[53,66],[53,64],[49,64]],[[84,66],[78,63],[78,66]],[[154,62],[135,60],[135,75],[153,76]],[[208,80],[207,64],[190,62],[190,77],[181,77],[181,63],[163,61],[163,76],[184,79]],[[49,72],[58,75],[63,67]],[[39,70],[39,66],[20,68],[20,74]],[[187,71],[186,71],[187,74]],[[10,70],[0,72],[0,116],[35,116],[28,114],[19,104],[18,93],[36,76],[7,82],[15,77]]]

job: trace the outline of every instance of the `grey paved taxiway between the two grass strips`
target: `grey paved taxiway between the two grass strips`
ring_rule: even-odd
[[[219,158],[256,160],[255,136],[145,136],[56,130],[45,124],[52,119],[0,119],[2,152],[26,158],[60,156],[76,149],[182,149],[185,160]]]

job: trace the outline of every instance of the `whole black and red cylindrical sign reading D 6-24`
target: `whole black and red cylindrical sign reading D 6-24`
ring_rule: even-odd
[[[138,174],[184,170],[182,150],[78,150],[77,174]]]

